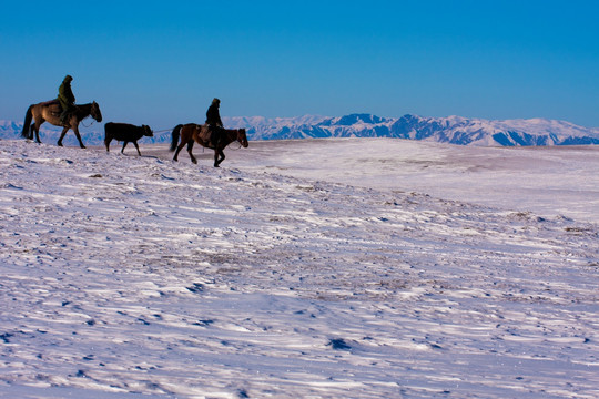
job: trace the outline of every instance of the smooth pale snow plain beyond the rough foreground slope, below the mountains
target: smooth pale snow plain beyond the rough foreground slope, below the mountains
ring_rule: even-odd
[[[225,151],[230,158],[223,166],[234,160],[243,171],[418,192],[599,223],[596,145],[473,147],[397,139],[326,139],[258,141],[240,153],[238,146],[234,143]],[[172,157],[164,145],[148,150],[164,160]],[[211,164],[212,152],[195,147],[194,154],[205,158],[202,164]],[[182,152],[180,160],[189,162],[187,154]]]

